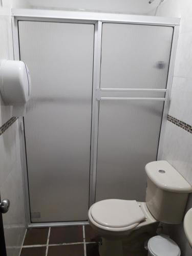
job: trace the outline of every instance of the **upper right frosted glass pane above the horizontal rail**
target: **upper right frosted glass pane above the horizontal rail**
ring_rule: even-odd
[[[173,28],[103,24],[101,88],[165,88]]]

